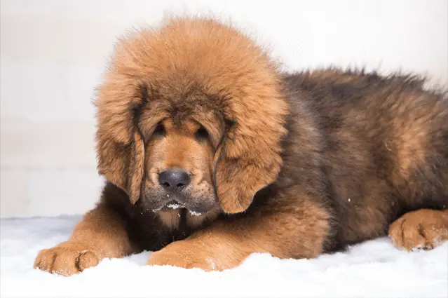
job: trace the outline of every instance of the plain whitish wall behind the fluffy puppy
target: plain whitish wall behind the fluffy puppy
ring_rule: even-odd
[[[231,17],[290,69],[367,65],[448,82],[447,0],[1,0],[2,216],[93,207],[93,88],[116,36],[172,12]]]

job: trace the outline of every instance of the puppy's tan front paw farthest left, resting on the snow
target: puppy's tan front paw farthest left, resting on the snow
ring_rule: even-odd
[[[34,268],[62,276],[71,276],[96,266],[99,262],[100,254],[88,245],[67,241],[54,248],[41,250],[34,262]]]

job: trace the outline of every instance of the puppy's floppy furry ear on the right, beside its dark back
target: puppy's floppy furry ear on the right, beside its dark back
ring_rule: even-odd
[[[276,92],[229,102],[231,117],[215,154],[215,189],[226,213],[246,210],[280,172],[288,107]]]

